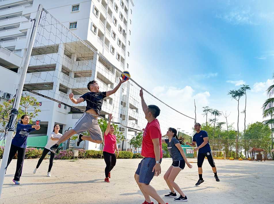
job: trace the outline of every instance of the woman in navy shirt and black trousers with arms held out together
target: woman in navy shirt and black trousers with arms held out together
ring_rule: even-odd
[[[40,125],[29,125],[28,123],[29,123],[29,116],[23,115],[21,117],[20,123],[17,124],[16,134],[14,138],[12,139],[12,144],[9,150],[9,159],[7,161],[7,167],[17,152],[16,171],[15,171],[14,179],[12,180],[15,185],[20,184],[20,177],[22,175],[28,134],[32,131],[40,129]]]

